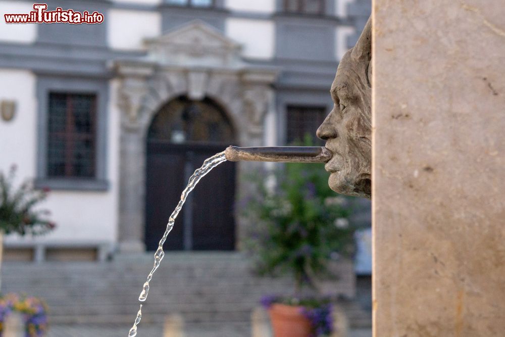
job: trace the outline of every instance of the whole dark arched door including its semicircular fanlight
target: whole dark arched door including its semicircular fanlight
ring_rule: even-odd
[[[168,218],[195,169],[234,142],[224,111],[212,100],[170,101],[147,134],[145,246],[156,250]],[[235,164],[225,162],[189,195],[165,243],[166,250],[235,248]]]

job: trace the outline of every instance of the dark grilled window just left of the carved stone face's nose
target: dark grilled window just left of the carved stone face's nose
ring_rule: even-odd
[[[309,134],[316,145],[324,145],[324,141],[316,136],[316,130],[325,118],[325,107],[288,106],[286,142],[299,142]]]

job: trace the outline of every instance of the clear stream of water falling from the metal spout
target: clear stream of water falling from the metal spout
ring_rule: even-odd
[[[153,269],[149,272],[147,275],[147,280],[145,281],[144,285],[142,286],[142,292],[140,293],[140,296],[138,297],[138,300],[140,302],[144,302],[147,299],[147,294],[149,293],[149,281],[153,278],[153,274],[155,273],[156,269],[160,266],[161,260],[163,260],[163,257],[165,256],[165,252],[163,251],[163,244],[165,243],[165,240],[167,239],[168,234],[174,227],[174,222],[175,218],[177,218],[177,215],[182,209],[182,206],[184,205],[184,202],[186,201],[187,196],[189,193],[193,190],[194,186],[200,181],[200,179],[209,173],[213,168],[221,164],[222,162],[226,161],[224,151],[220,152],[218,154],[215,154],[214,156],[207,158],[204,161],[204,164],[201,165],[199,169],[196,169],[194,171],[193,175],[189,177],[188,184],[186,188],[182,191],[181,194],[181,200],[177,204],[177,207],[175,210],[172,212],[170,215],[170,218],[168,219],[167,223],[167,228],[165,229],[165,233],[163,233],[163,236],[160,240],[160,243],[158,244],[158,249],[155,252],[155,263],[153,266]],[[142,305],[140,305],[140,309],[138,310],[137,317],[135,318],[135,323],[133,324],[132,328],[130,329],[130,332],[128,334],[128,337],[134,337],[137,335],[137,324],[140,322],[140,318],[142,318]]]

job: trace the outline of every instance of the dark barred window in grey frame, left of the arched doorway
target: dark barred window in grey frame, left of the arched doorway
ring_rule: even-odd
[[[49,93],[47,176],[94,178],[96,95]]]

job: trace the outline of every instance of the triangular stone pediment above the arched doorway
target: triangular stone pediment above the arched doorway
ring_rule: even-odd
[[[157,63],[229,67],[240,62],[240,45],[199,20],[145,43],[149,60]]]

